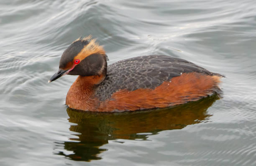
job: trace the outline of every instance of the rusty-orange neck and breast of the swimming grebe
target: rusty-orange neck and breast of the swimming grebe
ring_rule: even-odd
[[[95,104],[95,88],[104,79],[105,74],[92,76],[79,75],[67,93],[66,105],[70,108],[88,110],[89,107]]]

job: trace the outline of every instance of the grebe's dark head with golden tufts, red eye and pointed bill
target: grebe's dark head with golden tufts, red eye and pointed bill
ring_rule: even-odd
[[[102,46],[98,45],[91,36],[78,38],[61,55],[59,70],[48,82],[63,75],[106,75],[107,55]]]

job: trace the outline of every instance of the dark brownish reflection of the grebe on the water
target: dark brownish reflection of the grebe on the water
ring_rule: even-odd
[[[187,125],[206,121],[210,115],[209,108],[218,96],[210,96],[196,102],[190,102],[174,108],[161,108],[148,111],[122,112],[122,113],[95,113],[77,111],[67,108],[69,130],[77,132],[77,138],[70,141],[55,143],[56,149],[64,146],[64,151],[56,153],[76,161],[90,161],[101,159],[98,157],[107,149],[100,146],[115,139],[147,139],[147,133],[157,134],[159,131],[182,129]],[[145,134],[137,134],[145,133]]]

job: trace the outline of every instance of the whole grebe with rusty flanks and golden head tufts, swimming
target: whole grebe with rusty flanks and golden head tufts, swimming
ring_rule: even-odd
[[[64,50],[49,79],[78,75],[66,96],[69,108],[121,112],[166,108],[220,94],[220,78],[192,62],[169,55],[142,55],[107,65],[108,56],[92,36]]]

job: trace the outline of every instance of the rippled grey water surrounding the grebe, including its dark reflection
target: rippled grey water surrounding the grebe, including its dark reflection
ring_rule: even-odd
[[[256,165],[255,0],[1,0],[0,165]],[[47,83],[92,35],[114,63],[184,58],[226,76],[217,96],[169,109],[83,113],[76,76]]]

